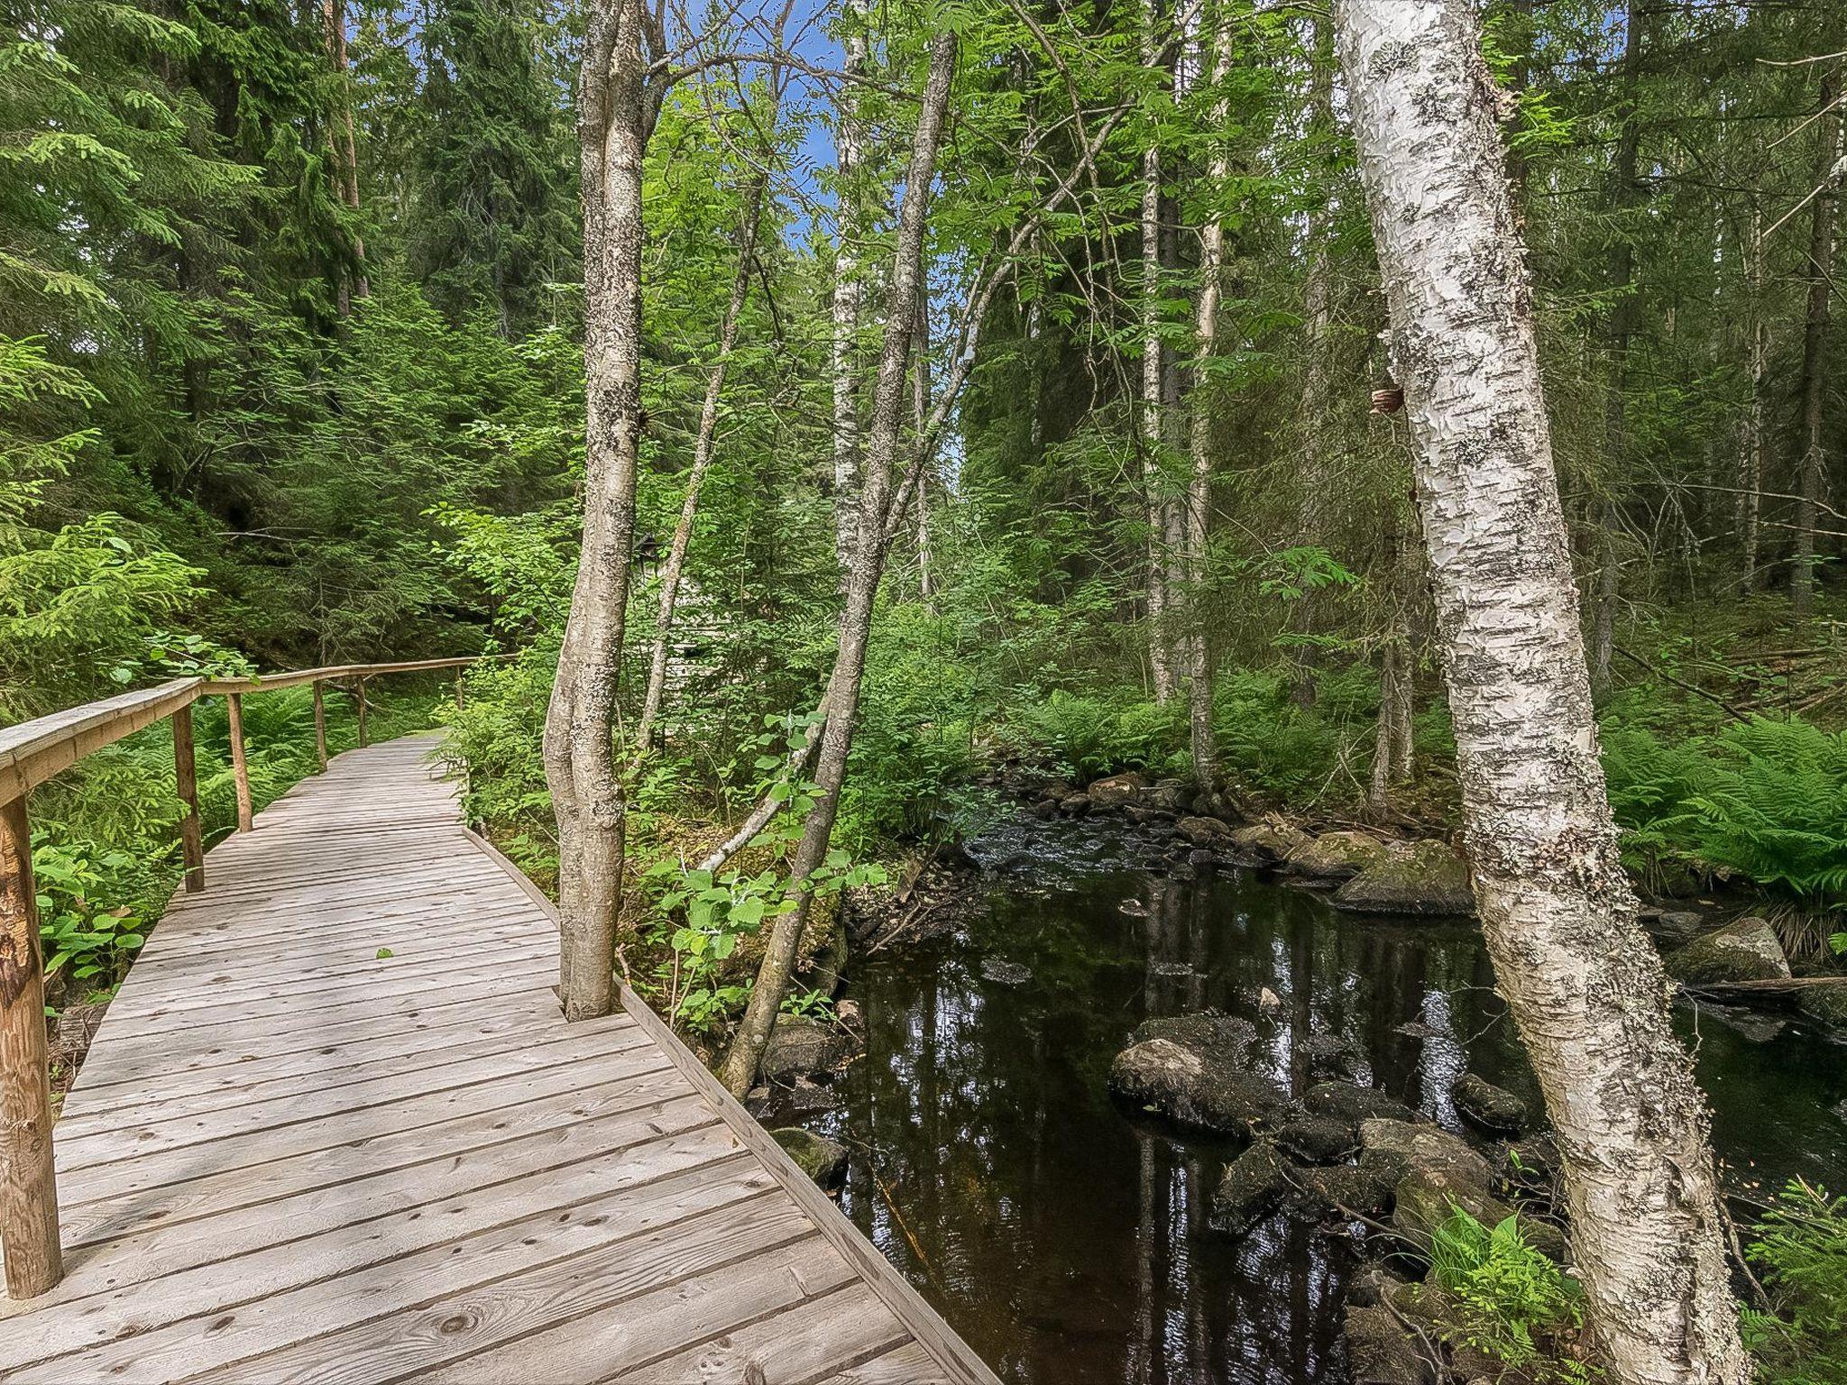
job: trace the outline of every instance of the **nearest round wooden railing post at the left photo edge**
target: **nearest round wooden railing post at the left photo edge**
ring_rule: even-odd
[[[37,1298],[65,1278],[52,1171],[44,957],[24,798],[0,805],[0,1243],[13,1298]]]

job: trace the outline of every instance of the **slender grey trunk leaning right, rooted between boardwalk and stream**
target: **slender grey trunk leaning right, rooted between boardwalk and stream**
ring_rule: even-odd
[[[918,295],[924,292],[924,225],[929,185],[936,172],[936,148],[942,140],[953,74],[955,35],[942,33],[931,41],[929,78],[924,85],[924,105],[911,146],[911,168],[905,174],[905,199],[898,212],[898,246],[892,255],[892,279],[887,295],[885,342],[879,351],[872,428],[866,436],[866,467],[859,488],[859,532],[853,539],[846,609],[840,613],[840,650],[835,656],[835,674],[827,696],[827,726],[820,739],[820,759],[815,770],[815,807],[809,811],[807,822],[802,824],[802,840],[796,844],[796,855],[789,868],[789,897],[796,901],[796,909],[778,914],[770,927],[763,966],[757,968],[757,984],[720,1069],[724,1086],[737,1097],[742,1097],[757,1080],[757,1064],[770,1042],[776,1012],[783,1003],[783,992],[794,968],[796,945],[807,927],[809,905],[815,897],[809,879],[827,855],[835,813],[840,805],[840,785],[846,781],[846,759],[853,748],[859,685],[872,635],[872,604],[885,571],[892,464],[898,458],[903,425],[911,338],[916,332]]]

